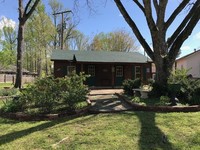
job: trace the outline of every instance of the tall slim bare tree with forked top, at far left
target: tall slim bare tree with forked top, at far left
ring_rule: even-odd
[[[15,88],[22,86],[22,54],[24,49],[24,27],[26,21],[32,15],[40,0],[29,0],[24,7],[24,0],[18,0],[19,4],[19,27],[17,37],[17,74],[15,81]]]

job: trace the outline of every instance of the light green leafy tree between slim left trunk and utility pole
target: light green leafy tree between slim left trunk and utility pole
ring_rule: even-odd
[[[34,64],[33,61],[35,61],[35,71],[37,71],[38,75],[42,75],[43,68],[47,75],[50,66],[48,58],[50,54],[49,45],[53,41],[55,27],[45,13],[45,6],[43,4],[39,3],[36,12],[27,22],[26,29],[27,63]]]

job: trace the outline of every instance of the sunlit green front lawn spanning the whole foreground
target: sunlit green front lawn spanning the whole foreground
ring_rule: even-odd
[[[199,118],[200,112],[123,112],[35,122],[0,118],[0,149],[196,150]]]

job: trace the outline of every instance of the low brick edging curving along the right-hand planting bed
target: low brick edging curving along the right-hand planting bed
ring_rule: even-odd
[[[137,103],[132,103],[121,94],[116,94],[118,97],[133,106],[135,111],[151,111],[151,112],[198,112],[200,105],[193,106],[143,106]]]

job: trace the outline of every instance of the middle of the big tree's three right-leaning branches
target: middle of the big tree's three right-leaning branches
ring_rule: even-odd
[[[196,11],[199,9],[200,1],[196,1],[188,15],[184,18],[184,20],[181,22],[179,27],[176,29],[176,31],[173,33],[173,35],[167,40],[168,47],[170,47],[177,36],[181,33],[181,31],[185,28],[185,26],[188,24],[188,21],[191,19],[193,15],[196,14]]]

